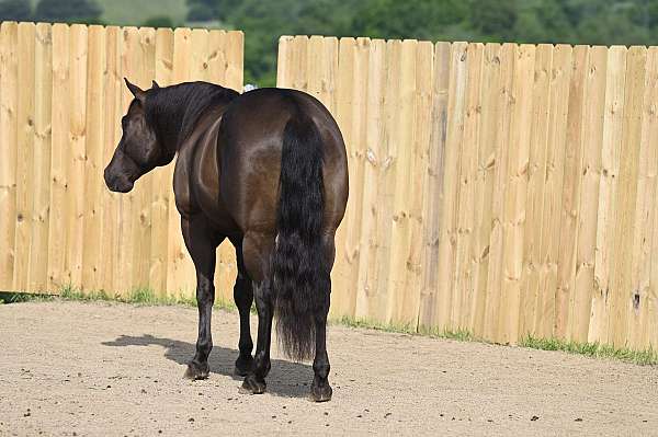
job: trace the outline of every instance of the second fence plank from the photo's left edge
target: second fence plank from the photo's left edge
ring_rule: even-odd
[[[29,291],[34,206],[34,23],[19,23],[16,209],[13,290]]]

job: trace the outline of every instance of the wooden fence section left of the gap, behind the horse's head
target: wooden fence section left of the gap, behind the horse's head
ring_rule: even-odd
[[[143,88],[207,80],[242,89],[242,33],[4,22],[0,27],[0,290],[191,294],[173,165],[110,193],[103,169]],[[217,279],[232,299],[230,245]]]

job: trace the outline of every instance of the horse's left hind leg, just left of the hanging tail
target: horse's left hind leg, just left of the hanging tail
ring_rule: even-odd
[[[260,394],[265,391],[265,377],[270,372],[270,345],[274,306],[269,280],[270,254],[274,244],[272,237],[247,232],[242,240],[245,266],[253,281],[256,308],[258,310],[258,338],[253,368],[245,378],[242,389]]]

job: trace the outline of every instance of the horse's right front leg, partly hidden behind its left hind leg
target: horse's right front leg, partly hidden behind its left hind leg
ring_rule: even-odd
[[[249,315],[251,303],[253,302],[253,287],[245,267],[242,241],[238,239],[231,239],[230,241],[236,248],[236,260],[238,262],[238,277],[234,286],[234,299],[240,313],[240,340],[238,342],[240,356],[236,359],[235,375],[246,377],[253,366],[253,358],[251,357],[253,342],[251,341],[251,329],[249,326]]]

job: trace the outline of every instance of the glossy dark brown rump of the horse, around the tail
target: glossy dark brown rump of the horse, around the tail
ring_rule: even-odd
[[[299,114],[315,124],[322,140],[328,231],[334,230],[344,215],[347,153],[329,111],[300,91],[259,89],[231,103],[224,114],[218,140],[222,196],[243,231],[275,231],[284,130]]]

